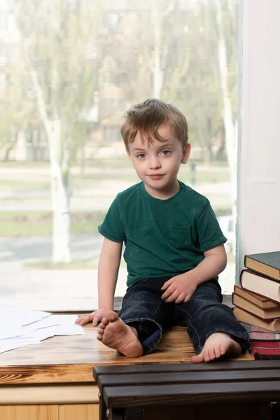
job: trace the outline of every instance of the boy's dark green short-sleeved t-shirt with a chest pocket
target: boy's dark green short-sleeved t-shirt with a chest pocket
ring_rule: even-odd
[[[139,279],[188,272],[204,251],[227,240],[209,200],[179,184],[176,195],[160,200],[137,183],[117,195],[98,228],[111,241],[125,242],[128,287]]]

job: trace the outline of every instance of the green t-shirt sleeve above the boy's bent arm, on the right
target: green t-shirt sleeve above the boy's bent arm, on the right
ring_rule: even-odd
[[[196,221],[197,235],[202,252],[224,244],[228,239],[223,235],[216,214],[209,200],[202,209]]]

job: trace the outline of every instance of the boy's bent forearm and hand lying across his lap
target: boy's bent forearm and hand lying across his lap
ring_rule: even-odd
[[[162,286],[165,302],[188,302],[197,286],[204,281],[214,279],[227,265],[227,254],[223,244],[204,252],[204,260],[190,271],[169,279]]]

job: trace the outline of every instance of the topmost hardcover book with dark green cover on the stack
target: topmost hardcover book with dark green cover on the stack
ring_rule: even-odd
[[[245,255],[244,265],[248,269],[280,281],[280,251]]]

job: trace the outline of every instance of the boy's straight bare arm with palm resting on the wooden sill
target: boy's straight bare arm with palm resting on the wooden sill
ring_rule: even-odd
[[[113,310],[113,298],[118,279],[118,269],[122,255],[123,242],[114,242],[104,238],[98,264],[98,307],[88,315],[79,316],[75,323],[85,325],[92,321],[92,326],[108,316],[109,309]]]

